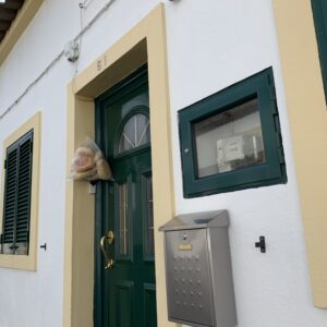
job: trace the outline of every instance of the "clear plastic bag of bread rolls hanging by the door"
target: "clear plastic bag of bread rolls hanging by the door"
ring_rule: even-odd
[[[71,164],[70,178],[86,181],[109,181],[112,179],[109,164],[101,149],[90,137],[87,137],[76,149]]]

